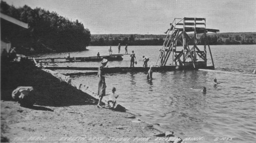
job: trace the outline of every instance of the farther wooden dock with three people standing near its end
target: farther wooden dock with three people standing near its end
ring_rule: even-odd
[[[38,63],[65,63],[74,61],[102,61],[102,59],[108,59],[109,61],[123,60],[123,54],[110,54],[92,57],[71,57],[71,58],[34,58]],[[31,59],[33,60],[33,59]],[[39,62],[40,61],[40,62]]]

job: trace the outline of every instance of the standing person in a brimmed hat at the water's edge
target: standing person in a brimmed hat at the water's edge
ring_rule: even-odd
[[[105,77],[104,77],[104,68],[106,68],[105,66],[107,65],[108,63],[108,60],[107,59],[103,59],[101,61],[101,65],[100,67],[98,67],[98,104],[97,104],[97,107],[98,108],[103,108],[102,107],[102,104],[101,104],[101,101],[102,101],[102,98],[103,96],[106,95],[106,82],[105,82]]]

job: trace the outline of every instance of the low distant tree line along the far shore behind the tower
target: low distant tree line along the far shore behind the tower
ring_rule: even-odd
[[[190,35],[190,34],[189,34]],[[199,34],[200,37],[202,34]],[[101,38],[92,40],[90,46],[111,46],[118,45],[135,45],[135,46],[148,46],[148,45],[163,45],[166,35],[137,35],[131,34],[130,37],[127,35],[121,35],[121,37],[115,36],[112,40],[109,39],[109,35],[102,34],[97,35]],[[112,36],[112,35],[111,35]],[[126,36],[126,37],[125,37]],[[138,38],[138,37],[139,38]],[[192,37],[193,35],[190,35]],[[164,37],[164,38],[163,38]],[[146,39],[143,38],[152,38]],[[199,39],[199,38],[197,38]],[[218,33],[218,34],[207,34],[207,39],[210,45],[252,45],[256,44],[256,33]],[[182,39],[181,39],[182,40]],[[205,39],[199,43],[199,45],[204,45]],[[178,42],[177,45],[182,45]]]

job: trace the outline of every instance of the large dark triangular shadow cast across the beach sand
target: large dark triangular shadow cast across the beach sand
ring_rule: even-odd
[[[50,73],[38,69],[32,64],[1,64],[1,100],[13,101],[11,93],[18,86],[33,86],[38,92],[36,104],[40,106],[63,107],[70,105],[97,104],[91,96],[77,88],[60,82]],[[51,110],[34,106],[34,110]]]

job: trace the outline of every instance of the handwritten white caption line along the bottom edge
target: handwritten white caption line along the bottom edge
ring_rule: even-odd
[[[48,136],[29,136],[29,137],[16,137],[10,139],[10,142],[197,142],[197,141],[212,141],[212,142],[221,142],[221,141],[231,141],[235,140],[235,137],[226,137],[226,136],[197,136],[197,137],[187,137],[181,139],[179,137],[155,137],[150,136],[147,138],[134,137],[134,138],[116,138],[116,137],[88,137],[88,136],[67,136],[67,137],[48,137]]]

